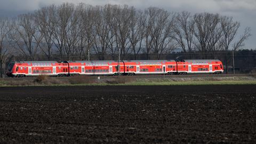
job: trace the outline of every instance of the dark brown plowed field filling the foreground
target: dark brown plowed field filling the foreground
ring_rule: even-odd
[[[256,86],[0,87],[0,143],[255,143]]]

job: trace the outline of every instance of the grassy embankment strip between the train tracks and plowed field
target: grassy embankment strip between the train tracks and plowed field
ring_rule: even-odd
[[[138,78],[121,77],[47,77],[0,79],[0,86],[83,86],[83,85],[256,85],[256,77],[163,77]]]

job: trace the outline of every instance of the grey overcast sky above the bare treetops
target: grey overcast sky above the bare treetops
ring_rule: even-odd
[[[75,4],[82,2],[91,5],[127,4],[137,9],[156,6],[173,12],[220,13],[232,16],[234,20],[241,22],[240,34],[245,27],[251,27],[252,36],[246,41],[246,47],[256,49],[256,0],[0,0],[0,17],[13,17],[63,2]]]

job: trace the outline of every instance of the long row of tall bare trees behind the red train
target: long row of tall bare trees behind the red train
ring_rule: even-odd
[[[220,14],[174,13],[157,7],[145,10],[127,5],[92,6],[63,3],[0,20],[0,64],[19,55],[22,60],[127,59],[144,53],[161,59],[174,49],[201,52],[237,50],[250,37],[238,34],[240,23]],[[119,57],[119,58],[118,58]],[[227,58],[226,58],[227,59]]]

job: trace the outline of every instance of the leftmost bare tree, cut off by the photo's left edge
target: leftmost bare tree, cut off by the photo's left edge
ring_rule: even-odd
[[[0,77],[3,77],[3,63],[12,52],[9,41],[11,23],[8,19],[0,19]]]

